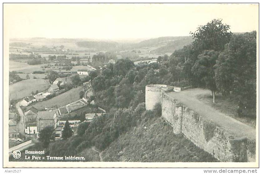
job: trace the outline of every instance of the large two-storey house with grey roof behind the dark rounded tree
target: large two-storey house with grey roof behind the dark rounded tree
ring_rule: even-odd
[[[41,131],[43,128],[51,126],[56,128],[58,113],[56,110],[53,111],[38,111],[36,116],[36,126],[37,132]]]

